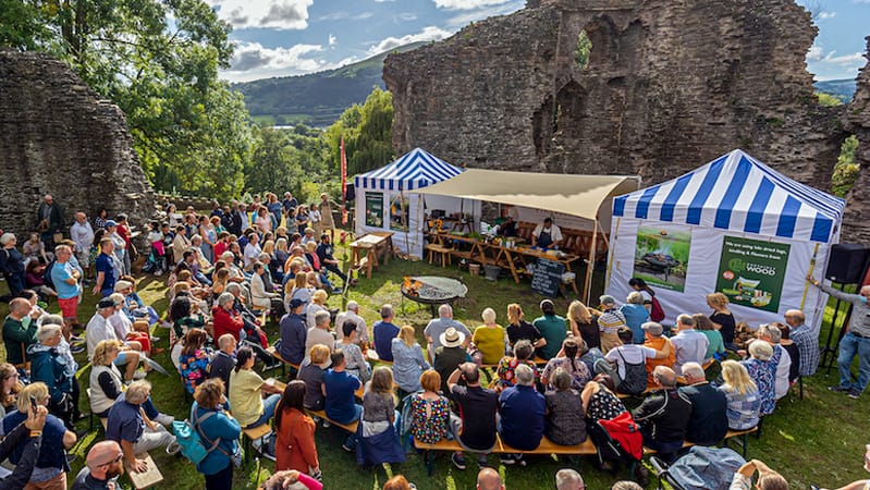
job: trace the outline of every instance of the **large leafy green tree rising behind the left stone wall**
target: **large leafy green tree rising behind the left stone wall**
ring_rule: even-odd
[[[11,0],[0,0],[9,2]],[[14,2],[14,1],[13,1]],[[242,98],[218,79],[233,47],[229,24],[201,0],[19,0],[17,17],[45,33],[2,41],[64,60],[127,115],[143,169],[158,189],[213,197],[242,189],[253,144]]]

